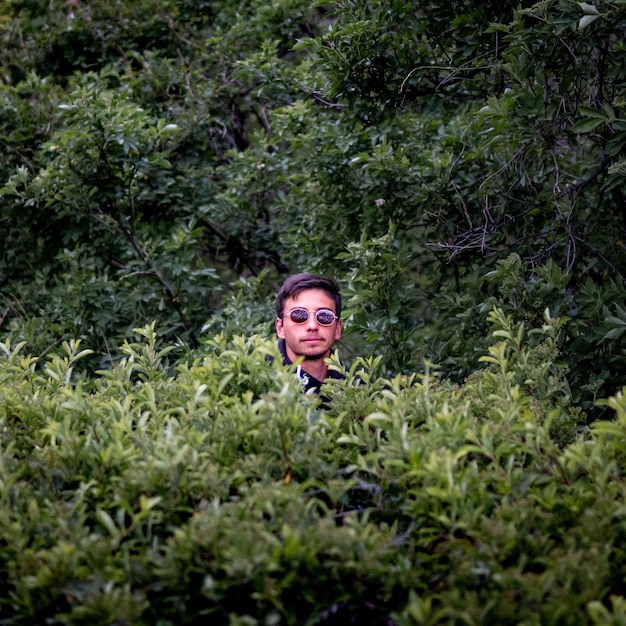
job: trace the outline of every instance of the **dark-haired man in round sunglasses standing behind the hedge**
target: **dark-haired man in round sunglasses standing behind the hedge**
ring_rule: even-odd
[[[297,363],[296,374],[305,389],[319,393],[324,379],[343,378],[329,371],[324,359],[341,338],[341,293],[329,278],[295,274],[276,297],[276,334],[283,363]]]

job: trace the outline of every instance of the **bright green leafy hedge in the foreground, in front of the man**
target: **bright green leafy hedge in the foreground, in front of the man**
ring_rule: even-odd
[[[327,411],[259,336],[173,370],[147,326],[88,379],[1,344],[0,618],[623,623],[624,396],[581,427],[558,320],[490,324],[464,385],[357,359]]]

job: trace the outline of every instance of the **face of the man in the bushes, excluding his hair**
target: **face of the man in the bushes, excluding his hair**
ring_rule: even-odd
[[[289,311],[302,307],[309,311],[309,318],[302,324],[289,319]],[[305,289],[293,298],[287,298],[283,309],[283,319],[276,318],[276,334],[285,340],[287,356],[295,361],[305,359],[324,359],[330,355],[330,349],[341,338],[341,320],[330,326],[322,326],[315,319],[318,309],[335,310],[335,301],[322,289]]]

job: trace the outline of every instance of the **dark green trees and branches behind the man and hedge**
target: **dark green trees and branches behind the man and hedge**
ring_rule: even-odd
[[[3,4],[2,328],[270,328],[337,278],[346,356],[460,381],[494,302],[560,317],[578,401],[623,367],[619,0]],[[109,347],[107,347],[109,346]]]

